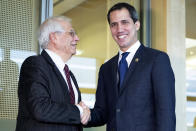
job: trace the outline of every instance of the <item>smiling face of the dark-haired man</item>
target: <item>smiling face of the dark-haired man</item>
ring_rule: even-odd
[[[112,37],[122,51],[126,51],[137,41],[137,31],[139,27],[139,21],[134,23],[126,8],[110,13],[110,30]]]

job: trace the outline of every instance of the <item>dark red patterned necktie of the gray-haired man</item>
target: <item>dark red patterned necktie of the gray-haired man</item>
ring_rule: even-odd
[[[65,64],[64,71],[65,71],[65,75],[67,78],[67,84],[69,86],[70,102],[71,102],[71,104],[75,104],[75,95],[74,95],[73,87],[71,85],[70,73],[69,73],[69,68],[68,68],[67,64]]]

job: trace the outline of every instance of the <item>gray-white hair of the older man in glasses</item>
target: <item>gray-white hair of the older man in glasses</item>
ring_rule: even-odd
[[[50,42],[49,35],[52,32],[64,32],[64,28],[60,24],[61,21],[71,23],[71,19],[65,16],[54,16],[48,18],[41,24],[38,32],[38,41],[42,49],[46,49]]]

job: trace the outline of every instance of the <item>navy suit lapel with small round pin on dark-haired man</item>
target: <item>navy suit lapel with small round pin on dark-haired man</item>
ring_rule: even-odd
[[[130,82],[131,76],[132,76],[133,71],[135,70],[135,68],[138,66],[138,64],[141,63],[142,53],[143,53],[144,48],[145,48],[144,45],[141,44],[140,47],[138,48],[138,50],[136,51],[130,65],[129,65],[128,71],[125,74],[125,78],[124,78],[122,87],[120,89],[120,93],[122,93],[122,91],[126,87],[127,83]]]

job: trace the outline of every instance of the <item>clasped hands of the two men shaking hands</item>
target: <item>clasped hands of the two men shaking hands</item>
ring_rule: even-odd
[[[81,102],[79,103],[79,105],[80,105],[80,106],[82,107],[82,109],[83,109],[83,113],[82,113],[81,116],[80,116],[81,123],[82,123],[83,125],[86,125],[86,124],[88,123],[88,121],[90,120],[91,111],[90,111],[89,107],[88,107],[86,104],[84,104],[83,101],[81,101]]]

